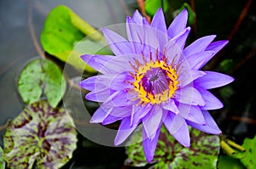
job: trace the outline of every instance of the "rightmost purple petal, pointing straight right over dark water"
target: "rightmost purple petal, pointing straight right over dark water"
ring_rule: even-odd
[[[206,75],[195,80],[197,87],[211,89],[222,87],[234,81],[234,78],[214,71],[205,71]]]

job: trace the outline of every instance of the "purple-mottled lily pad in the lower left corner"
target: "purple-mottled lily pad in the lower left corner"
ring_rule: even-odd
[[[9,168],[59,168],[72,158],[77,132],[64,109],[46,101],[28,105],[3,136]]]

